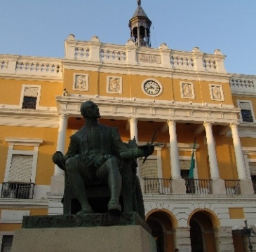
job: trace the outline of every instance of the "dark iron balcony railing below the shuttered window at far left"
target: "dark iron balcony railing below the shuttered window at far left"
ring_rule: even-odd
[[[4,182],[1,190],[1,198],[32,199],[34,183]]]

